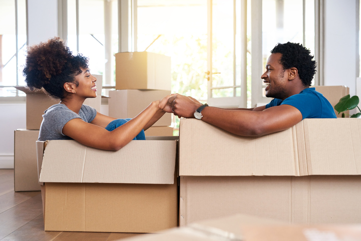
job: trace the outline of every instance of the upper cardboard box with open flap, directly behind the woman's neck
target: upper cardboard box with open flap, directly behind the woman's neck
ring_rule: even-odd
[[[93,99],[89,98],[85,100],[84,104],[90,105],[91,107],[94,107],[96,111],[100,112],[102,75],[94,76],[97,78],[96,85],[98,96]],[[49,97],[42,90],[30,91],[24,86],[15,86],[15,88],[26,94],[26,129],[39,130],[44,111],[50,106],[58,104],[60,100]]]

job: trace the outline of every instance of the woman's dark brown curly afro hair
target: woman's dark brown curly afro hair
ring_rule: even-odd
[[[80,67],[88,67],[88,58],[73,55],[62,39],[54,37],[27,48],[22,72],[30,90],[43,88],[50,96],[61,99],[65,93],[64,83],[76,83]]]

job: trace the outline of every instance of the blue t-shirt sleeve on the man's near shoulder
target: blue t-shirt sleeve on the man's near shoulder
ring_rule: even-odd
[[[321,101],[314,94],[301,93],[288,97],[281,105],[296,107],[302,114],[302,119],[314,118],[322,111]]]

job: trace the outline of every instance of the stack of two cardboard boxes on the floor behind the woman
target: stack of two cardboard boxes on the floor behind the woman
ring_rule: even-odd
[[[97,97],[86,99],[84,104],[100,111],[102,75],[97,78]],[[30,91],[24,86],[16,89],[26,94],[26,129],[14,131],[14,191],[40,191],[37,179],[36,148],[35,143],[44,111],[59,100],[47,96],[43,91]]]

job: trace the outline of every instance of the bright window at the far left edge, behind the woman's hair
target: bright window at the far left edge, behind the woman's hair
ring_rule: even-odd
[[[25,84],[21,68],[26,50],[25,0],[0,0],[0,22],[0,96],[16,96],[11,86]]]

